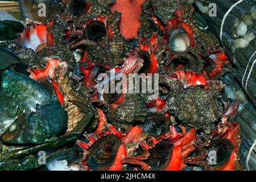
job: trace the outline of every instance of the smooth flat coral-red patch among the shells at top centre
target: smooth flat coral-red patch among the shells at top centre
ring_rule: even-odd
[[[122,13],[119,28],[121,34],[126,39],[138,38],[138,30],[141,26],[139,16],[141,15],[141,5],[145,0],[117,0],[112,6],[111,11]]]

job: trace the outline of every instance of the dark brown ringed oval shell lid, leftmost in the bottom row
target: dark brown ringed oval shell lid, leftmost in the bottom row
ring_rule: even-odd
[[[121,140],[113,134],[107,135],[93,145],[86,162],[93,171],[108,170],[114,163]]]

